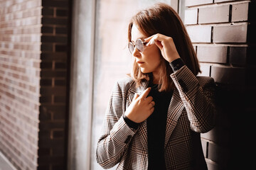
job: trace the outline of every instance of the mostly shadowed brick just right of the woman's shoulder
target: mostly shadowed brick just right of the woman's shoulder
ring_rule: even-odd
[[[211,67],[210,77],[221,84],[229,84],[232,86],[245,85],[245,69],[231,67]]]

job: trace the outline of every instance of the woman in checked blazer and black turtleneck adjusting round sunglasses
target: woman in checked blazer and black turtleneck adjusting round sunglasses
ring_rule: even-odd
[[[200,133],[215,125],[215,83],[173,8],[155,4],[129,23],[130,77],[114,85],[97,162],[105,169],[207,169]]]

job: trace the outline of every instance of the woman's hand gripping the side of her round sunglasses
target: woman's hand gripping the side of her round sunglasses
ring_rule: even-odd
[[[144,40],[148,42],[146,46],[155,44],[157,47],[159,47],[161,50],[161,55],[166,61],[172,62],[180,58],[176,50],[174,40],[171,37],[157,33]]]

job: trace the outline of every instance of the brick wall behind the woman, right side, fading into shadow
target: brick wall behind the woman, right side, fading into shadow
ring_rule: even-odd
[[[216,127],[201,135],[208,169],[255,169],[255,1],[186,0],[202,75],[217,83]]]

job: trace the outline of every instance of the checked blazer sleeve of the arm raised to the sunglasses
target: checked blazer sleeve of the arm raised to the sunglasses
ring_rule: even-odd
[[[215,126],[215,82],[211,77],[196,77],[183,66],[171,74],[188,113],[191,130],[208,132]],[[200,81],[199,81],[200,80]]]

